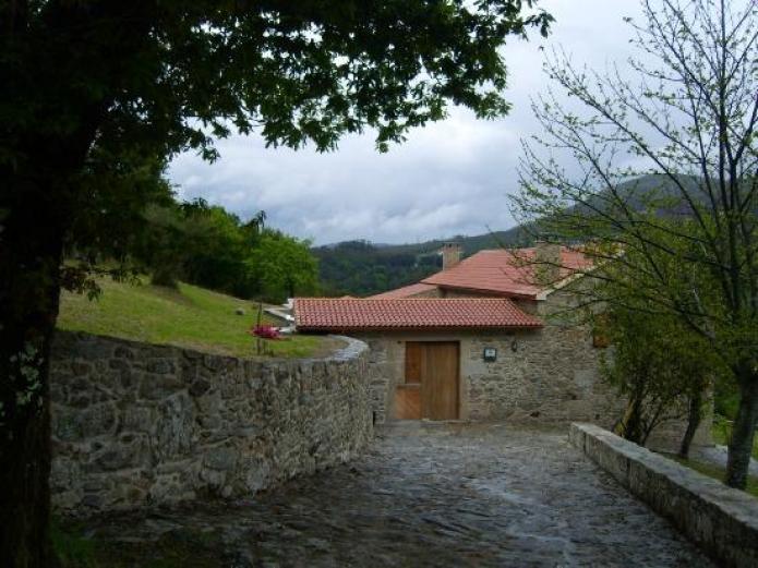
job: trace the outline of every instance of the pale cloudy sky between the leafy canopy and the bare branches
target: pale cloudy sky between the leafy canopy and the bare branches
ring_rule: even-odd
[[[204,197],[246,218],[263,209],[268,225],[316,244],[368,239],[416,242],[481,234],[514,225],[507,194],[517,188],[521,138],[538,132],[530,97],[548,84],[540,46],[563,46],[576,63],[597,69],[629,55],[623,17],[639,14],[637,0],[543,0],[556,22],[550,38],[505,47],[509,69],[508,117],[478,121],[461,109],[411,132],[387,154],[374,135],[346,137],[339,149],[317,154],[266,148],[255,135],[218,143],[221,158],[179,156],[171,181],[182,198]]]

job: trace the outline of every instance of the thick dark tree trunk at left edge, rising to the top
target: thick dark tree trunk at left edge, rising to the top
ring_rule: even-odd
[[[63,240],[81,201],[85,158],[113,98],[129,87],[156,15],[147,1],[41,2],[37,10],[33,22],[0,36],[0,102],[34,109],[33,121],[22,114],[24,121],[0,123],[3,568],[57,564],[48,534],[48,371]]]

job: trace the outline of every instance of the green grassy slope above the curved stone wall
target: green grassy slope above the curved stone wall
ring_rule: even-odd
[[[59,328],[227,355],[255,355],[255,340],[246,333],[257,313],[252,302],[183,283],[179,290],[108,279],[99,285],[103,294],[94,301],[61,294]],[[245,315],[237,315],[237,307]],[[264,316],[264,323],[270,321]],[[296,336],[267,345],[274,355],[310,356],[334,347],[328,343],[318,337]]]

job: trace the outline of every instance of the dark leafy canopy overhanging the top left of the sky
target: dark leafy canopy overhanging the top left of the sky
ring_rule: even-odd
[[[34,124],[64,133],[77,128],[83,107],[108,100],[108,141],[189,145],[208,157],[213,138],[231,129],[260,129],[270,145],[311,141],[330,149],[342,134],[372,126],[385,148],[443,118],[450,101],[482,118],[505,113],[497,49],[529,28],[546,34],[548,14],[524,13],[533,4],[203,0],[3,9],[0,62],[10,76],[0,114],[9,131]],[[38,88],[39,78],[52,88]],[[45,125],[38,111],[53,99],[59,112],[45,116]],[[0,150],[21,158],[16,146]]]

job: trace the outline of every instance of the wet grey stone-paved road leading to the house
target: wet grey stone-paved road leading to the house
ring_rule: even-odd
[[[123,546],[185,533],[225,567],[712,566],[564,433],[496,424],[388,427],[357,462],[254,501],[96,532]]]

